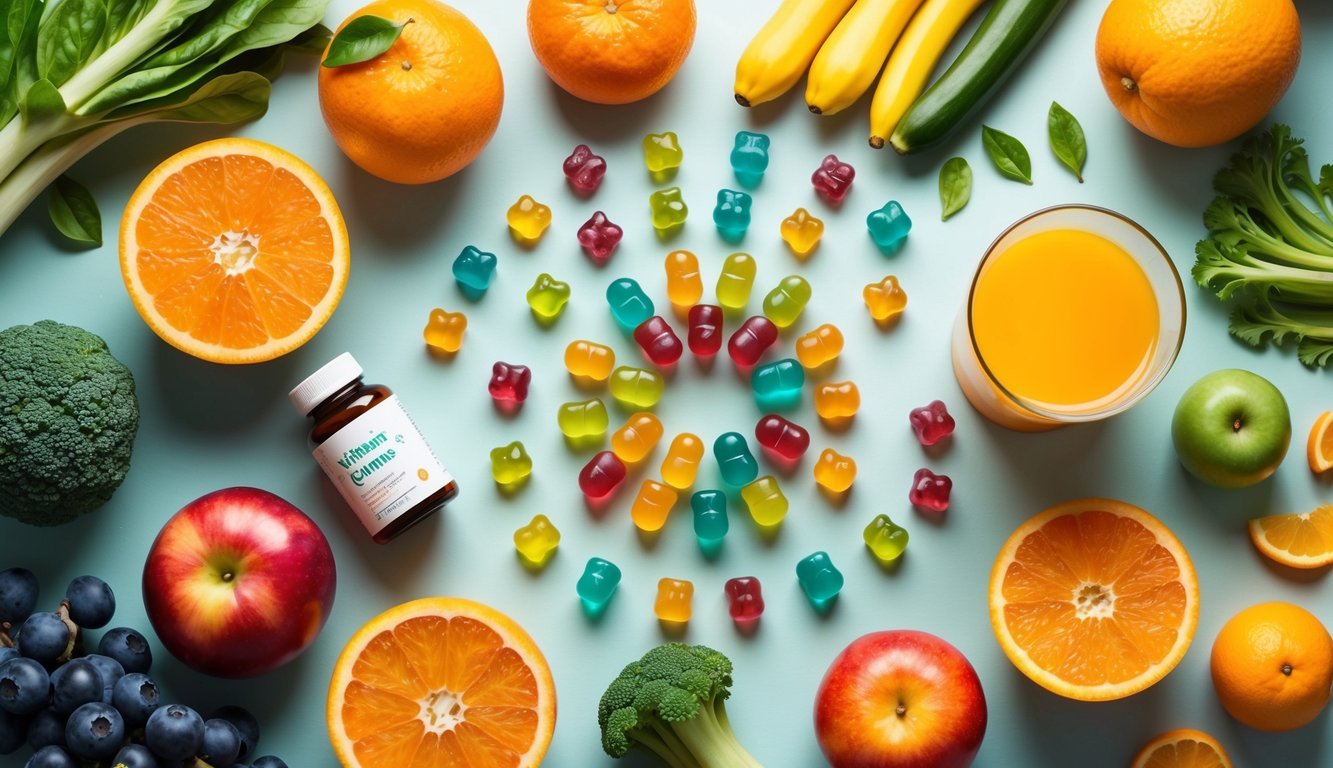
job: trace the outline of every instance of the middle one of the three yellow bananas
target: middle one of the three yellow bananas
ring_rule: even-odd
[[[805,104],[810,112],[833,115],[860,99],[921,3],[857,0],[810,64],[805,81]]]

